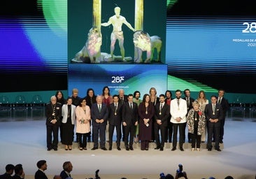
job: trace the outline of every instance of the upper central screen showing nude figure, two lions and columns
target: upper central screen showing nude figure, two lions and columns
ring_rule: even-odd
[[[166,1],[69,0],[68,29],[69,62],[165,62]]]

